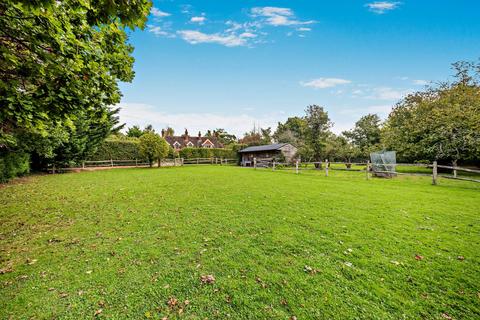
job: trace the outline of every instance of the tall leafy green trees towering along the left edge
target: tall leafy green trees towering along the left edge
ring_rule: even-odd
[[[0,180],[19,159],[34,167],[85,159],[121,129],[111,106],[118,82],[134,77],[126,30],[143,28],[150,6],[0,2]]]

